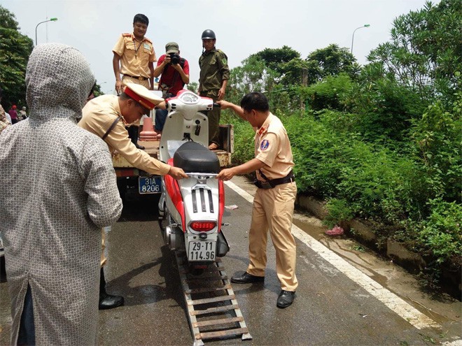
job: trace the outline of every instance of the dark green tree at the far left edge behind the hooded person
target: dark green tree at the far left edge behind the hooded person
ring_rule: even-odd
[[[0,80],[5,108],[26,103],[26,67],[34,42],[19,29],[15,15],[0,6]]]

